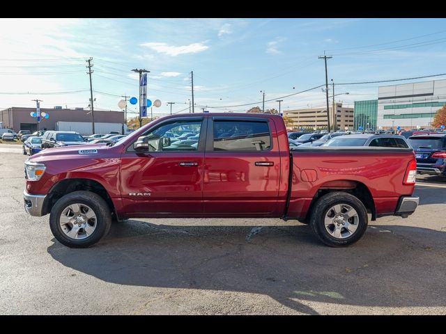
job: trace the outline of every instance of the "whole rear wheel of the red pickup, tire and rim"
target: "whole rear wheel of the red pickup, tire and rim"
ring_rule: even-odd
[[[367,209],[360,200],[350,193],[336,191],[318,199],[309,223],[324,244],[342,247],[361,239],[368,221]]]

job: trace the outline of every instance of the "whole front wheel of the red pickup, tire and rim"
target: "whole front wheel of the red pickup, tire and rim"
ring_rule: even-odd
[[[109,232],[112,214],[102,197],[91,191],[73,191],[60,198],[49,215],[54,237],[71,248],[93,246]]]

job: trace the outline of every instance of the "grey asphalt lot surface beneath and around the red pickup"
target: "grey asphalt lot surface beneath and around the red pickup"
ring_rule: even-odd
[[[24,212],[26,157],[0,146],[0,314],[446,315],[446,178],[419,177],[417,212],[348,248],[242,218],[135,219],[70,249]]]

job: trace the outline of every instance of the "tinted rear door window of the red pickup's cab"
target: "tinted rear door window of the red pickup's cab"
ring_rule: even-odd
[[[214,151],[267,151],[271,149],[268,122],[214,120]]]

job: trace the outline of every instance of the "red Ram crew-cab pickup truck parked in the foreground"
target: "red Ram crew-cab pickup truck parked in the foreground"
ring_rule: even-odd
[[[412,149],[290,152],[280,116],[167,116],[115,144],[51,148],[25,162],[24,207],[49,214],[57,240],[83,248],[113,219],[277,217],[312,225],[329,246],[353,244],[368,214],[412,214]]]

